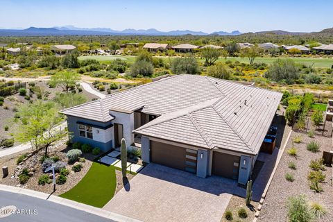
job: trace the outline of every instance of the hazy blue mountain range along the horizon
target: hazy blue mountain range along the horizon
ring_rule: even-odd
[[[324,29],[321,32],[288,32],[282,30],[261,31],[258,35],[307,35],[307,34],[333,34],[333,28]],[[111,28],[78,28],[75,26],[57,26],[52,28],[30,27],[26,29],[0,29],[0,36],[65,36],[65,35],[242,35],[239,31],[231,33],[225,31],[216,31],[213,33],[204,33],[202,31],[176,30],[176,31],[158,31],[155,28],[133,29],[128,28],[123,31],[117,31]]]

